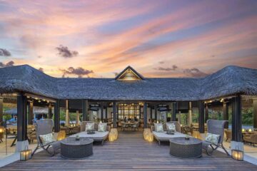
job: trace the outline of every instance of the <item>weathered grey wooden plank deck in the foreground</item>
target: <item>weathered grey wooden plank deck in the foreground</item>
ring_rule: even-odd
[[[32,160],[17,161],[0,170],[257,170],[256,165],[232,160],[222,152],[186,160],[171,157],[168,149],[168,144],[144,141],[142,132],[119,132],[119,140],[94,145],[94,155],[83,160],[39,152]]]

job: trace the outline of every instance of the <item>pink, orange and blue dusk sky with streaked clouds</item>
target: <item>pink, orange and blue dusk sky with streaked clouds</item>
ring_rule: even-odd
[[[199,77],[257,68],[257,1],[2,1],[0,67],[54,77]]]

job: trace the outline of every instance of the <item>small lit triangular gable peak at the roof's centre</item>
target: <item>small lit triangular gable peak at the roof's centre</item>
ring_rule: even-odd
[[[131,66],[127,66],[121,73],[116,76],[115,80],[144,80],[143,76],[134,70]]]

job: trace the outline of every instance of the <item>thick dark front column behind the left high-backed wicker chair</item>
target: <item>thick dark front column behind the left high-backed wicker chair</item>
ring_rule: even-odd
[[[23,94],[17,96],[17,141],[24,141],[27,138],[27,99]]]

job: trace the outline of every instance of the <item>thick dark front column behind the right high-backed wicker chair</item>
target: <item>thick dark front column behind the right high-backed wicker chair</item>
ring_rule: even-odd
[[[236,95],[232,98],[232,141],[242,141],[242,115],[241,115],[241,96]]]

